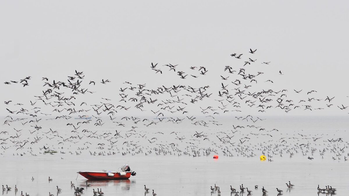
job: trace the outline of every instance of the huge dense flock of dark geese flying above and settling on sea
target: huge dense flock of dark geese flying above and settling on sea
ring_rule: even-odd
[[[304,134],[301,130],[282,133],[277,128],[258,126],[266,119],[256,115],[240,115],[244,113],[242,108],[263,115],[273,109],[289,113],[297,110],[324,110],[334,105],[346,111],[349,107],[342,103],[334,104],[335,96],[309,97],[317,93],[315,90],[272,90],[275,83],[273,78],[263,79],[265,74],[261,71],[248,72],[249,67],[257,64],[261,69],[270,66],[271,62],[258,63],[253,58],[256,52],[250,49],[250,57],[246,60],[242,60],[245,56],[243,54],[231,54],[238,66],[222,67],[222,74],[217,76],[213,84],[200,86],[194,82],[194,85],[172,84],[151,88],[146,83],[123,82],[118,90],[119,99],[100,95],[99,100],[93,103],[84,100],[88,100],[86,97],[97,93],[104,85],[111,85],[113,80],[103,78],[100,82],[86,81],[83,71],[77,70],[62,80],[42,77],[42,89],[34,97],[25,97],[27,100],[19,101],[8,97],[4,101],[4,110],[9,115],[5,117],[0,131],[0,153],[21,156],[29,153],[37,156],[38,153],[54,154],[60,151],[64,154],[67,153],[64,149],[70,147],[72,149],[69,149],[69,153],[74,155],[155,153],[198,157],[221,153],[227,157],[255,157],[262,153],[267,155],[268,161],[274,161],[273,156],[293,157],[295,154],[313,160],[316,152],[322,158],[328,152],[333,160],[346,161],[349,153],[346,154],[345,149],[349,145],[341,137],[329,138],[325,133]],[[196,80],[210,74],[210,70],[204,66],[180,70],[178,65],[166,64],[160,67],[158,63],[151,63],[150,69],[155,76],[175,73],[183,81],[188,77]],[[168,73],[165,69],[168,69]],[[187,71],[191,73],[187,74]],[[284,73],[280,70],[278,75]],[[4,95],[18,90],[12,89],[14,85],[30,88],[34,78],[28,76],[5,81],[3,91],[7,93]],[[257,84],[262,87],[252,92],[251,89]],[[107,88],[115,89],[115,86]],[[294,100],[289,98],[292,94],[308,97]],[[314,107],[313,103],[322,106]],[[201,114],[196,114],[197,111]],[[137,115],[129,115],[132,112]],[[86,113],[92,113],[92,116]],[[150,115],[155,118],[142,117]],[[73,116],[79,116],[79,119]],[[223,124],[220,116],[228,116],[234,123],[224,125],[229,128],[221,129]],[[57,127],[52,127],[52,121],[57,123]],[[173,124],[191,124],[196,131],[166,133],[157,129],[158,125],[169,127]],[[115,128],[103,128],[105,125]],[[157,132],[154,133],[154,130]],[[257,138],[267,142],[253,143]],[[65,144],[70,146],[65,147]]]

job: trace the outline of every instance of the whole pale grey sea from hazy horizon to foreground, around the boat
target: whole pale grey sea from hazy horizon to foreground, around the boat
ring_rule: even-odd
[[[66,121],[44,121],[41,125],[44,130],[40,130],[34,134],[30,134],[28,130],[20,131],[23,135],[21,140],[27,139],[32,141],[34,137],[43,137],[36,144],[26,144],[24,149],[16,150],[11,147],[7,150],[1,149],[1,176],[0,184],[8,184],[12,187],[11,191],[3,191],[3,195],[21,195],[28,193],[30,195],[49,195],[49,192],[54,195],[73,195],[74,189],[70,187],[70,181],[76,186],[84,187],[86,179],[78,176],[78,171],[102,171],[102,170],[117,170],[119,167],[128,164],[131,169],[137,172],[136,176],[131,176],[129,180],[110,180],[110,181],[92,181],[91,187],[84,187],[86,190],[83,195],[93,195],[92,189],[102,188],[105,195],[148,195],[144,193],[144,184],[147,188],[154,189],[157,195],[177,196],[177,195],[217,195],[217,192],[211,192],[210,186],[221,187],[221,195],[231,194],[230,185],[233,188],[239,189],[239,185],[244,184],[249,190],[252,190],[252,195],[262,195],[261,188],[264,186],[268,190],[267,195],[277,195],[276,188],[284,191],[283,195],[325,195],[318,193],[317,186],[325,188],[330,185],[337,189],[336,195],[348,195],[349,187],[349,161],[344,161],[344,156],[347,156],[348,149],[348,117],[268,117],[267,120],[258,121],[258,123],[238,121],[235,118],[223,119],[222,126],[213,127],[198,127],[190,125],[188,122],[181,125],[170,126],[169,123],[159,124],[153,127],[146,127],[137,130],[137,134],[147,134],[144,138],[139,135],[131,135],[129,138],[118,138],[118,142],[112,149],[107,145],[103,137],[84,138],[77,143],[65,142],[58,145],[62,139],[55,137],[57,133],[43,134],[49,128],[58,130],[58,133],[63,138],[82,133],[72,133],[69,126],[62,126]],[[74,121],[74,120],[71,120]],[[76,120],[75,120],[76,121]],[[234,131],[232,125],[255,125],[262,126],[266,130],[259,131],[256,128],[237,129]],[[84,125],[85,126],[85,125]],[[22,125],[13,126],[13,128],[21,128]],[[87,126],[92,131],[98,130],[98,134],[115,133],[115,125],[106,123],[103,127],[95,128],[91,125]],[[2,127],[3,128],[3,127]],[[273,128],[279,131],[270,131]],[[6,127],[8,129],[8,127]],[[81,129],[78,132],[81,132]],[[127,132],[129,128],[117,127],[121,134]],[[31,130],[33,131],[33,129]],[[164,134],[155,134],[161,131]],[[176,131],[177,135],[170,134]],[[192,141],[196,139],[193,136],[195,131],[199,133],[204,131],[208,140]],[[219,139],[225,134],[235,135],[231,142],[235,144],[223,144]],[[250,133],[270,133],[273,137],[267,135],[252,135]],[[15,132],[10,132],[9,135],[14,135]],[[322,137],[317,141],[306,138]],[[89,135],[89,134],[86,134]],[[54,137],[53,139],[46,138]],[[178,137],[186,137],[183,141],[176,140]],[[3,138],[4,135],[0,135]],[[148,140],[152,137],[157,137],[157,141],[149,143]],[[239,139],[249,137],[245,143],[240,144]],[[286,137],[287,143],[280,143],[280,138]],[[297,137],[298,139],[288,139],[289,137]],[[328,142],[327,139],[342,138],[342,142]],[[89,144],[83,144],[84,142]],[[136,143],[134,147],[122,143]],[[9,146],[10,142],[6,141]],[[105,143],[104,149],[98,149],[98,143]],[[170,143],[176,143],[171,147]],[[189,144],[185,142],[192,142]],[[307,147],[301,148],[299,144],[306,144]],[[163,144],[161,146],[159,144]],[[58,153],[43,154],[39,148],[43,145],[50,146],[50,149],[57,150]],[[263,150],[261,146],[270,145],[269,150],[264,151],[268,158],[273,161],[260,161],[259,156]],[[89,146],[88,149],[86,147]],[[336,150],[343,148],[343,151]],[[85,149],[83,149],[85,148]],[[108,149],[109,148],[109,149]],[[168,153],[155,153],[155,149],[163,148]],[[202,148],[211,148],[216,153],[211,153],[207,156],[193,157],[192,151],[200,151]],[[230,156],[224,156],[224,149],[229,150]],[[253,156],[243,156],[236,149],[244,149],[246,154],[248,150]],[[273,151],[274,149],[274,151]],[[294,156],[290,158],[290,153],[282,149],[291,149]],[[292,150],[293,149],[293,150]],[[306,150],[316,149],[314,153],[306,152]],[[319,150],[328,149],[323,155],[319,154]],[[331,152],[331,149],[333,151]],[[134,150],[134,151],[133,151]],[[129,153],[128,153],[129,151]],[[202,151],[202,150],[201,150]],[[297,151],[297,152],[296,152]],[[31,152],[31,153],[30,153]],[[41,153],[40,153],[41,152]],[[60,153],[60,152],[65,152]],[[70,153],[71,152],[71,153]],[[90,155],[90,152],[96,152],[96,155]],[[113,155],[108,153],[115,152]],[[126,155],[122,155],[126,152]],[[138,153],[135,153],[138,152]],[[147,153],[151,152],[151,153]],[[172,154],[170,154],[171,152]],[[187,152],[183,154],[183,152]],[[303,153],[305,154],[303,154]],[[18,155],[17,155],[18,153]],[[20,154],[23,156],[20,156]],[[25,153],[25,154],[24,154]],[[78,153],[78,155],[76,154]],[[98,155],[100,153],[101,155]],[[147,153],[147,155],[145,155]],[[336,156],[336,154],[340,154]],[[213,159],[213,155],[218,154],[218,159]],[[36,156],[34,156],[36,155]],[[180,155],[180,156],[179,156]],[[313,157],[313,160],[307,157]],[[335,160],[332,158],[334,157]],[[340,158],[340,159],[338,159]],[[51,177],[53,181],[47,179]],[[34,177],[34,181],[31,178]],[[286,182],[291,181],[295,185],[294,188],[288,189]],[[14,187],[17,185],[18,192],[15,193]],[[258,189],[254,186],[258,185]],[[56,186],[62,189],[61,193],[57,193]],[[247,192],[243,193],[247,195]]]

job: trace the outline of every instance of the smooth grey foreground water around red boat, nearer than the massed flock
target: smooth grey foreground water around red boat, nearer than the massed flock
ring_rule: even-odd
[[[323,163],[322,161],[281,161],[268,162],[246,158],[222,157],[214,160],[210,157],[174,157],[174,156],[104,156],[79,158],[65,155],[63,160],[57,156],[44,159],[36,157],[9,157],[1,159],[1,184],[17,184],[20,191],[30,195],[57,194],[55,186],[62,189],[58,195],[72,195],[70,181],[83,187],[86,183],[76,172],[81,170],[113,170],[127,161],[131,169],[137,172],[129,180],[92,181],[84,195],[93,195],[92,189],[102,188],[105,195],[141,195],[143,185],[155,189],[158,195],[217,195],[210,186],[221,187],[221,195],[230,195],[230,185],[239,188],[239,184],[250,187],[254,195],[262,195],[265,187],[269,195],[276,195],[276,188],[284,190],[284,195],[316,195],[317,184],[334,185],[339,189],[337,195],[346,195],[348,191],[347,163]],[[8,164],[8,163],[11,164]],[[34,177],[34,181],[31,177]],[[47,180],[50,176],[53,181]],[[77,180],[75,180],[77,177]],[[291,181],[295,188],[287,189],[285,183]],[[286,188],[285,188],[286,187]],[[3,192],[14,195],[14,191]],[[149,193],[148,195],[151,195]],[[233,194],[234,195],[234,194]]]

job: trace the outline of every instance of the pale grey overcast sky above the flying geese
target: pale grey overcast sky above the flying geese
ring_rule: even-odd
[[[224,66],[242,67],[230,54],[251,57],[253,48],[259,61],[253,69],[274,81],[265,89],[317,90],[312,97],[336,96],[346,106],[348,6],[323,0],[0,1],[1,100],[29,100],[43,90],[41,77],[63,81],[75,69],[86,80],[109,79],[115,88],[124,81],[219,88]],[[163,75],[155,75],[151,62],[179,64],[189,74],[190,66],[209,72],[181,80],[164,67]],[[3,84],[29,75],[34,78],[25,88]]]

